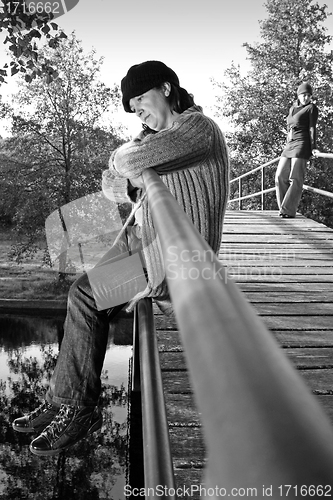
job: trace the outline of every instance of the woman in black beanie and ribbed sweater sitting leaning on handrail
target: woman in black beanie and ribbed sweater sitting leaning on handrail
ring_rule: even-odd
[[[142,214],[140,217],[137,213],[134,240],[136,251],[141,241],[148,283],[144,281],[141,288],[135,288],[135,276],[130,276],[130,301],[133,306],[141,297],[152,297],[167,312],[170,299],[164,267],[150,207],[144,193],[141,195],[141,174],[147,168],[156,170],[217,252],[228,195],[227,147],[219,127],[194,104],[193,97],[180,87],[176,73],[165,64],[147,61],[132,66],[121,89],[125,111],[140,118],[143,131],[112,154],[110,169],[103,175],[103,191],[113,200],[115,190],[127,200],[141,197]],[[126,240],[129,233],[124,236],[124,256],[117,256],[118,265],[133,250],[133,238]],[[100,281],[92,283],[88,272],[72,285],[64,338],[46,401],[13,422],[16,431],[39,433],[30,445],[36,455],[56,455],[102,425],[98,400],[108,313],[114,316],[126,305],[117,300],[126,280],[119,283],[121,275],[117,267],[113,269],[114,273],[107,265],[99,265]],[[126,271],[126,266],[122,269]],[[104,309],[98,307],[99,301],[107,304]]]

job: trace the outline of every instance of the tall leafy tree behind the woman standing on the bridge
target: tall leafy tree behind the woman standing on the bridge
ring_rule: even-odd
[[[324,26],[330,15],[327,6],[313,0],[268,0],[265,7],[268,17],[260,21],[261,41],[244,44],[251,62],[248,74],[243,76],[233,64],[226,71],[226,83],[214,82],[220,93],[217,113],[231,125],[227,139],[234,177],[281,154],[286,115],[302,81],[313,85],[320,109],[318,147],[333,150],[333,53],[328,50],[332,37]],[[323,188],[329,168],[327,161],[316,160],[308,180]],[[270,186],[272,181],[271,169]],[[275,208],[273,197],[271,203]]]

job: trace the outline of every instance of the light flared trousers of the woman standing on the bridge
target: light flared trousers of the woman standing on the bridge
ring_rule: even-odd
[[[280,158],[275,175],[276,200],[281,214],[295,217],[301,200],[307,160]]]

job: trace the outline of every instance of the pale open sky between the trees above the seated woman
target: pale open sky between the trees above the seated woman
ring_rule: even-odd
[[[245,42],[260,41],[259,20],[267,17],[265,0],[80,0],[56,22],[104,57],[101,79],[120,83],[130,66],[155,59],[179,76],[195,102],[210,114],[213,77],[222,81],[232,62],[246,73]],[[333,12],[333,0],[319,0]],[[333,16],[326,26],[333,34]],[[0,46],[0,65],[5,48]],[[10,92],[10,82],[4,94]],[[2,89],[3,90],[3,89]],[[137,118],[124,113],[130,128]],[[139,124],[140,128],[140,124]]]

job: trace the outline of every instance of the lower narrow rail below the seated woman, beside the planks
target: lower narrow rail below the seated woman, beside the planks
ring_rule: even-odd
[[[175,499],[175,481],[151,299],[134,314],[132,390],[141,390],[144,485],[149,498]],[[163,485],[164,494],[157,489]]]

